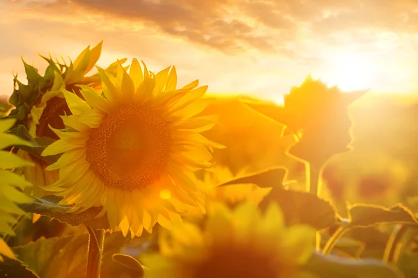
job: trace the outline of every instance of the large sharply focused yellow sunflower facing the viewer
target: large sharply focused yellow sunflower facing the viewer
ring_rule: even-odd
[[[208,149],[223,148],[199,134],[216,120],[195,117],[212,101],[201,99],[208,86],[196,88],[196,80],[176,89],[174,67],[154,75],[137,59],[129,74],[121,65],[116,77],[98,70],[102,92],[80,86],[82,100],[63,90],[72,115],[62,117],[65,132],[52,128],[60,139],[42,153],[63,153],[47,167],[59,170],[59,180],[45,189],[74,210],[102,206],[100,215],[125,235],[178,217],[171,199],[203,210],[194,171],[211,166]]]

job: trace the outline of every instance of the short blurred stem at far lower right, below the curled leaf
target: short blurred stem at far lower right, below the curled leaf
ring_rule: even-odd
[[[401,254],[402,248],[409,239],[408,225],[397,224],[387,240],[385,253],[383,254],[383,261],[385,263],[396,263]]]

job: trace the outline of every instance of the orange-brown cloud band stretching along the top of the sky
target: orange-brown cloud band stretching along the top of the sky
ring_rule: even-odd
[[[297,56],[306,38],[343,45],[346,38],[377,32],[416,33],[415,0],[13,0],[13,6],[70,23],[119,22],[218,49],[226,54],[257,50]],[[346,36],[348,35],[348,36]]]

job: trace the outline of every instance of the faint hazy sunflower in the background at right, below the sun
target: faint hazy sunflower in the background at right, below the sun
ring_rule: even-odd
[[[375,153],[367,156],[353,152],[334,157],[324,171],[327,194],[336,202],[374,203],[393,206],[403,201],[403,191],[410,180],[410,170],[401,160]]]

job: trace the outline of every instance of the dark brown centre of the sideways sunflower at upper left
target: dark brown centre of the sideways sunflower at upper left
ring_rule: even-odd
[[[54,97],[48,100],[42,116],[40,116],[39,124],[36,126],[36,137],[45,136],[58,140],[59,137],[52,132],[48,125],[59,130],[65,128],[63,119],[60,117],[65,114],[71,115],[65,98]]]

